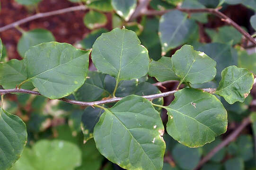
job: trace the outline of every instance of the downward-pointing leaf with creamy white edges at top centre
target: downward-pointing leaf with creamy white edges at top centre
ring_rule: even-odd
[[[128,21],[136,8],[137,0],[111,0],[111,4],[116,13]]]

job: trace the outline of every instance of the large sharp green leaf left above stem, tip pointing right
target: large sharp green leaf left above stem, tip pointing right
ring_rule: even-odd
[[[50,98],[59,99],[76,91],[84,84],[88,72],[89,51],[72,45],[46,42],[32,47],[24,59],[27,80],[38,91]]]

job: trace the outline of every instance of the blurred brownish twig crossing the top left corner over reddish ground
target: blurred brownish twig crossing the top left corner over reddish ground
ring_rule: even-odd
[[[41,17],[49,17],[49,16],[53,16],[53,15],[59,15],[59,14],[63,14],[66,12],[71,12],[71,11],[77,11],[77,10],[86,10],[87,7],[84,5],[79,5],[79,6],[75,6],[75,7],[70,7],[70,8],[63,8],[63,9],[59,9],[59,10],[55,10],[55,11],[51,11],[51,12],[44,12],[44,13],[37,13],[33,16],[30,17],[26,17],[24,19],[18,20],[14,23],[11,23],[9,25],[0,27],[0,32],[5,31],[7,29],[13,28],[15,26],[19,26],[21,24],[24,24],[26,22],[41,18]]]

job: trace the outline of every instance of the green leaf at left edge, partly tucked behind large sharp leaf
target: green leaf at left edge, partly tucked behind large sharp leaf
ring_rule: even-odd
[[[0,63],[0,85],[3,88],[16,88],[26,79],[26,68],[23,60],[11,59],[8,62]],[[34,86],[31,82],[26,82],[21,88],[34,89]]]

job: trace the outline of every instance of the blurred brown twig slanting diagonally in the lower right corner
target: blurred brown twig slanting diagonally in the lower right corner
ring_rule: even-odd
[[[223,140],[221,144],[217,145],[215,148],[212,149],[212,151],[210,151],[205,157],[203,157],[203,159],[198,163],[197,167],[194,170],[199,170],[204,163],[206,163],[212,158],[212,156],[219,152],[223,147],[230,144],[230,142],[235,140],[239,133],[249,124],[250,117],[243,119],[240,126],[236,130],[234,130],[225,140]]]

